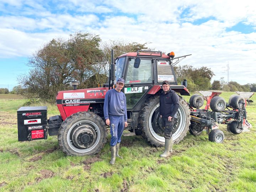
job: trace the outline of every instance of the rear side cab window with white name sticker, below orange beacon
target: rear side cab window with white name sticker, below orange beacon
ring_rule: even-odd
[[[174,74],[171,69],[171,65],[167,60],[157,60],[157,74],[158,74],[158,82],[163,82],[165,80],[169,82],[175,82]]]

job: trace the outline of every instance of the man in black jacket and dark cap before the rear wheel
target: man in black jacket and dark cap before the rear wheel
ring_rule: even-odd
[[[162,89],[163,91],[159,101],[159,111],[162,119],[162,126],[164,127],[165,151],[160,157],[166,158],[170,152],[172,153],[172,132],[180,104],[179,96],[175,91],[170,89],[169,81],[162,82]]]

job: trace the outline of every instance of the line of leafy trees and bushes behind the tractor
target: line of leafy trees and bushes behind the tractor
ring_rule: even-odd
[[[102,42],[98,35],[83,32],[70,34],[68,39],[52,39],[29,58],[30,71],[18,77],[19,85],[10,93],[55,101],[58,91],[72,89],[70,83],[73,80],[79,81],[78,89],[103,85],[109,73],[112,48],[116,58],[127,52],[152,50],[147,45],[123,40]],[[179,65],[174,70],[178,84],[187,79],[191,92],[209,89],[256,91],[256,84],[239,85],[237,82],[226,83],[223,79],[211,84],[214,73],[206,66]]]

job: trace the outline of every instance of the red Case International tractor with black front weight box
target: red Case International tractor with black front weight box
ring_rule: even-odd
[[[138,50],[138,52],[123,54],[114,60],[112,51],[108,82],[103,87],[78,90],[76,89],[78,82],[74,81],[74,90],[59,91],[56,98],[60,115],[47,120],[46,107],[21,107],[17,111],[18,140],[31,141],[47,139],[48,134],[58,135],[60,148],[67,155],[98,153],[106,143],[107,137],[107,126],[103,114],[105,95],[109,89],[113,89],[118,78],[123,78],[128,116],[128,127],[125,128],[128,131],[123,135],[142,134],[151,145],[163,146],[164,130],[159,115],[162,81],[168,80],[171,84],[170,88],[180,95],[190,95],[186,88],[186,80],[182,81],[182,85],[178,85],[173,69],[173,65],[186,56],[188,55],[175,58],[173,52],[166,55],[162,52]],[[200,100],[194,97],[191,102],[198,101]],[[210,119],[211,121],[205,122],[200,113],[196,110],[191,112],[188,103],[180,96],[180,108],[174,125],[174,143],[180,142],[185,137],[192,122],[191,114],[192,118],[201,118],[204,123],[200,125],[200,122],[193,121],[192,128],[200,127],[196,129],[197,131],[201,131],[201,127],[206,126],[209,130],[213,129],[214,121]],[[29,122],[30,119],[37,119],[38,123]],[[37,130],[41,133],[40,137],[33,137]],[[211,137],[212,141],[219,137],[218,133]]]

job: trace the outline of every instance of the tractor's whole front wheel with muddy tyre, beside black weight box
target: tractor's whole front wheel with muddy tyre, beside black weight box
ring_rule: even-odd
[[[60,126],[58,141],[67,155],[94,155],[107,142],[107,127],[95,113],[74,113]]]

